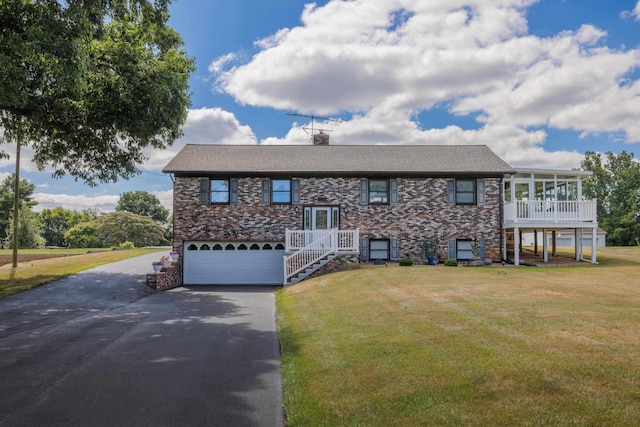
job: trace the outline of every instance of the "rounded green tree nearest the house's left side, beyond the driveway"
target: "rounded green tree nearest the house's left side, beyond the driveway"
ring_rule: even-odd
[[[96,235],[104,246],[120,246],[133,242],[137,247],[164,243],[164,229],[147,216],[129,212],[103,214],[96,220]]]

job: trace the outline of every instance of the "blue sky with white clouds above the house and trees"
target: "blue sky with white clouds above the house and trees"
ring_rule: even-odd
[[[170,208],[161,170],[184,144],[309,143],[287,113],[340,119],[315,123],[332,144],[485,144],[512,166],[640,154],[637,0],[174,0],[171,14],[197,65],[184,137],[94,188],[35,171],[26,150],[39,209],[109,211],[133,190]]]

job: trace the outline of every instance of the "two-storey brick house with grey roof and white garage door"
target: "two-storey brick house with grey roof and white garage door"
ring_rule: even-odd
[[[288,284],[348,263],[426,263],[426,249],[499,260],[516,173],[486,146],[328,144],[187,145],[164,172],[186,285]]]

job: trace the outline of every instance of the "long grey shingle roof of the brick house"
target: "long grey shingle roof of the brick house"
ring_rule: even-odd
[[[177,175],[502,176],[513,168],[484,145],[186,145]]]

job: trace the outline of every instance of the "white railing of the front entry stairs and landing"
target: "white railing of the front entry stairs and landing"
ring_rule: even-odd
[[[284,283],[332,254],[358,253],[359,230],[285,230]]]

